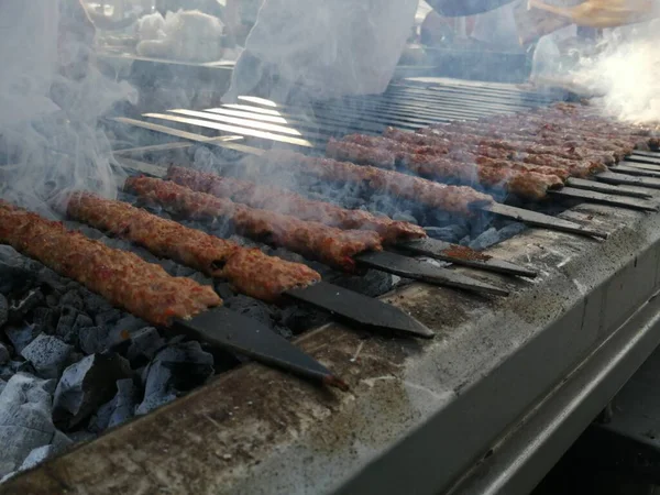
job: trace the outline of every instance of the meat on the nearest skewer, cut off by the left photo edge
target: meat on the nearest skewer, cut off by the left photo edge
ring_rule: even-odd
[[[191,318],[222,300],[211,287],[172,277],[133,253],[0,200],[0,242],[100,294],[152,324]]]

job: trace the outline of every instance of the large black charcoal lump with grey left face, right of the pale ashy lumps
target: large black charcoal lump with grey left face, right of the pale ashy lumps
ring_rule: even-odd
[[[131,376],[129,362],[118,354],[94,354],[64,371],[57,389],[53,418],[76,426],[114,394],[114,383]]]

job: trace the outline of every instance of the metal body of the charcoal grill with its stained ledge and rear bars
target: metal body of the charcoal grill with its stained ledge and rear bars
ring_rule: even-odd
[[[311,113],[251,99],[201,116],[182,109],[118,119],[177,139],[138,143],[118,157],[158,173],[172,150],[187,145],[182,140],[239,155],[270,142],[314,152],[329,135],[411,130],[558,97],[417,80],[380,97],[316,103]],[[265,130],[260,116],[280,117],[300,135]],[[659,158],[634,155],[626,174],[607,174],[614,186],[601,190],[654,198],[658,185],[641,170],[652,173]],[[243,366],[0,493],[527,493],[660,342],[660,215],[587,201],[561,218],[608,239],[540,228],[488,251],[534,266],[534,280],[455,268],[507,287],[508,298],[422,284],[384,297],[436,331],[433,341],[364,339],[338,323],[299,338],[302,350],[349,382],[349,393]]]

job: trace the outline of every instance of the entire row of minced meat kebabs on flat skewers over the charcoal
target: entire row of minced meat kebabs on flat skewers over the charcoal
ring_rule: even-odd
[[[504,188],[540,199],[571,177],[588,177],[635,147],[657,148],[658,144],[648,130],[604,121],[576,107],[558,106],[498,118],[496,122],[453,123],[417,133],[388,129],[383,136],[345,136],[328,143],[331,158],[272,151],[254,163],[260,169],[286,169],[329,182],[355,183],[428,208],[472,216],[479,209],[496,211],[498,206],[491,195],[465,184]],[[398,167],[415,175],[397,172]],[[179,217],[230,219],[246,237],[287,248],[346,273],[366,267],[397,273],[399,266],[398,273],[404,276],[506,294],[421,262],[408,271],[400,268],[414,262],[391,252],[403,249],[469,266],[535,276],[534,271],[429,240],[424,229],[415,224],[311,200],[279,187],[180,167],[170,167],[166,178],[131,177],[124,189]],[[382,328],[417,337],[432,336],[392,306],[322,282],[320,274],[307,265],[245,249],[122,201],[73,193],[66,215],[125,238],[161,257],[227,279],[238,292],[264,301],[285,304],[295,299],[358,324],[374,326],[373,316],[378,315]],[[255,327],[252,320],[245,321],[228,310],[219,318],[217,308],[222,301],[211,288],[170,277],[157,265],[67,231],[61,223],[0,202],[0,242],[42,261],[153,324],[175,324],[261,361],[345,386],[319,363],[267,329]],[[346,305],[349,300],[352,307]],[[211,308],[216,309],[209,311]],[[270,351],[260,351],[264,339],[268,340]]]

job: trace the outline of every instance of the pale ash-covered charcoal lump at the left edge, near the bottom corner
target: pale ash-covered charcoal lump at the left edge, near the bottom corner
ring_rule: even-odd
[[[52,380],[19,373],[0,394],[0,476],[15,471],[33,449],[53,441],[54,385]]]

